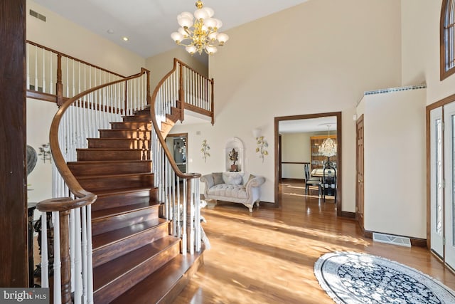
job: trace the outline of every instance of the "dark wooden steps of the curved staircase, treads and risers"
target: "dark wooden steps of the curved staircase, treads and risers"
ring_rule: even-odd
[[[166,137],[180,117],[173,108],[161,122]],[[77,149],[68,167],[83,189],[97,195],[92,205],[95,303],[168,303],[202,263],[202,253],[181,255],[181,239],[160,218],[151,173],[150,110],[111,122]],[[166,279],[164,279],[166,278]]]

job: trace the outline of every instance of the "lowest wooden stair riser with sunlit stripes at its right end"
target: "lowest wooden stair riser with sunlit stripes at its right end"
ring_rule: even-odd
[[[77,150],[78,161],[150,159],[148,150]]]

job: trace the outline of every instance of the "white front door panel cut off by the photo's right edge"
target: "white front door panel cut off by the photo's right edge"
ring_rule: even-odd
[[[455,268],[455,103],[444,105],[444,258]]]

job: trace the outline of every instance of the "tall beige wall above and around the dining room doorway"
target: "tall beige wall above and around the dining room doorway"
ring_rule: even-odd
[[[267,179],[261,199],[274,201],[274,117],[342,111],[343,211],[355,211],[355,105],[365,90],[401,83],[400,2],[309,1],[227,33],[209,61],[215,126],[203,132],[245,139],[250,170]],[[264,163],[255,127],[269,140]]]

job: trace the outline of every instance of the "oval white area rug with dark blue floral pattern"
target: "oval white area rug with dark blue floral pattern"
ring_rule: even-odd
[[[455,303],[455,292],[401,263],[365,253],[326,253],[314,264],[335,303]]]

